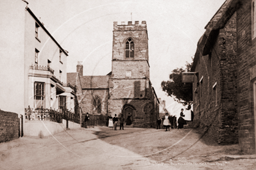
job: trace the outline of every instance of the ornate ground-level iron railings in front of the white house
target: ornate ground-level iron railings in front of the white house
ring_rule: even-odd
[[[62,123],[62,119],[73,121],[80,124],[80,115],[75,114],[67,109],[63,109],[62,112],[55,111],[55,109],[32,109],[30,106],[25,108],[26,120],[41,120],[41,121],[55,121]]]

